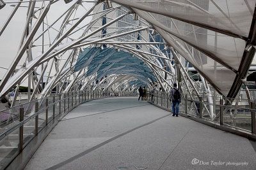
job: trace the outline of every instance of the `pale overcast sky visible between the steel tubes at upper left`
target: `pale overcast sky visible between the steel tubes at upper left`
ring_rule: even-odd
[[[13,2],[15,0],[12,0]],[[7,1],[6,1],[7,2]],[[66,11],[72,4],[74,4],[76,1],[72,1],[71,3],[65,4],[63,0],[58,1],[57,3],[54,3],[51,5],[51,8],[47,14],[47,20],[49,25],[51,25],[58,17],[60,17],[64,11]],[[16,4],[16,3],[12,3]],[[20,7],[15,15],[13,16],[10,24],[8,27],[6,27],[5,31],[3,34],[0,36],[0,67],[8,68],[10,64],[12,63],[13,59],[15,58],[15,55],[18,52],[19,45],[20,45],[20,39],[22,36],[22,33],[24,31],[24,25],[26,23],[26,15],[29,3],[22,3],[20,4]],[[83,6],[79,6],[78,9],[76,10],[76,16],[72,18],[79,18],[83,13],[86,12],[86,9],[90,8],[93,3],[83,3]],[[0,28],[3,27],[4,22],[6,22],[6,19],[14,9],[13,6],[10,6],[11,4],[6,4],[4,8],[0,10]],[[24,7],[23,7],[24,6]],[[38,2],[36,3],[36,7],[41,7],[42,3]],[[38,9],[38,8],[36,8]],[[35,16],[38,17],[40,11],[35,13]],[[88,23],[92,17],[86,18],[81,25],[84,23]],[[63,18],[54,25],[54,28],[60,29],[61,22],[63,21]],[[33,24],[35,24],[36,20],[34,19]],[[46,22],[46,18],[44,20]],[[75,22],[75,21],[74,21]],[[44,25],[44,28],[47,26]],[[42,25],[40,25],[40,28],[38,29],[38,33],[36,33],[35,38],[42,32]],[[53,41],[54,37],[57,35],[57,31],[54,31],[51,29],[50,33],[50,38],[51,41]],[[74,38],[77,38],[81,32],[74,34]],[[47,45],[49,44],[49,36],[48,32],[45,33],[45,38],[44,38],[44,44]],[[42,38],[38,39],[38,41],[35,41],[34,45],[42,45]],[[44,51],[47,49],[48,46],[44,47]],[[36,46],[33,48],[33,57],[36,57],[37,55],[42,52],[42,46]],[[26,53],[25,53],[26,55]],[[19,66],[25,61],[26,56],[23,56],[21,62],[19,63]],[[36,55],[36,56],[35,56]],[[40,71],[39,71],[40,72]],[[6,69],[0,68],[0,79],[3,78],[4,73],[6,73]],[[26,84],[26,83],[25,83]]]

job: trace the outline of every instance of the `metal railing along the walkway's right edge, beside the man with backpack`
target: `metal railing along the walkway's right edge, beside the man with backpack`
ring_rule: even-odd
[[[148,93],[147,96],[148,101],[172,110],[168,93],[155,91],[154,93]],[[188,117],[197,117],[212,122],[212,124],[226,125],[239,131],[255,134],[255,101],[250,101],[249,105],[248,99],[214,97],[214,101],[209,103],[207,97],[193,96],[193,99],[191,99],[186,94],[181,99],[179,111]],[[225,101],[232,101],[232,103],[224,105]],[[210,116],[211,113],[213,117]]]

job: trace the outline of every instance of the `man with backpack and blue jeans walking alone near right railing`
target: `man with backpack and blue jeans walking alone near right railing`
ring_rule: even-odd
[[[170,102],[172,102],[172,116],[178,117],[179,115],[179,104],[180,104],[180,97],[181,93],[180,90],[177,88],[177,83],[173,84],[173,89],[170,92]],[[175,110],[176,107],[176,110]]]

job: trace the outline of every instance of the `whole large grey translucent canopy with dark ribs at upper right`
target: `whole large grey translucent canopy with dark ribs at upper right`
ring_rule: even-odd
[[[113,0],[154,26],[220,94],[235,97],[255,49],[255,0]],[[225,67],[225,69],[223,69]]]

